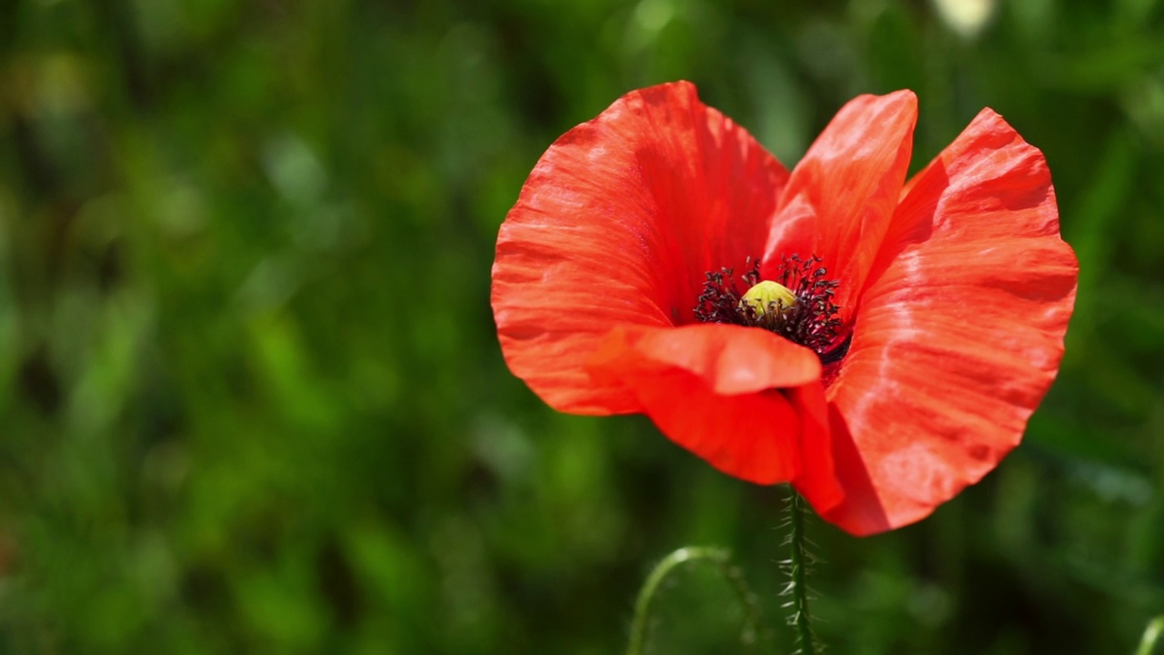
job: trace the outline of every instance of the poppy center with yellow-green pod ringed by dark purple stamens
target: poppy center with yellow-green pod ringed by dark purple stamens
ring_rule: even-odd
[[[748,272],[708,273],[695,317],[703,323],[762,328],[811,348],[821,364],[836,364],[849,352],[852,333],[842,334],[840,309],[832,302],[838,282],[826,280],[821,258],[785,258],[776,280],[760,279],[760,261],[748,258]],[[740,283],[746,286],[740,294]]]

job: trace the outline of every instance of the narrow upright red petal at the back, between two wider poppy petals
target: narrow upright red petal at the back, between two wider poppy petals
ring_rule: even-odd
[[[847,323],[889,226],[909,168],[917,122],[913,91],[859,96],[837,112],[792,172],[772,223],[764,275],[781,256],[817,255],[839,280]]]

